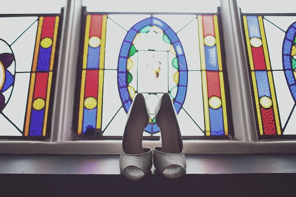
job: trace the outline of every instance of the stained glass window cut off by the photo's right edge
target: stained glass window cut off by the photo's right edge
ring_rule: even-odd
[[[296,15],[242,13],[259,138],[296,135]]]

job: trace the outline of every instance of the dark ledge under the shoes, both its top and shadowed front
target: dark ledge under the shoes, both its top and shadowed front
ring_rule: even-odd
[[[179,179],[165,179],[152,166],[144,179],[129,181],[120,175],[119,155],[1,154],[0,194],[242,197],[296,192],[296,154],[189,154],[186,162]]]

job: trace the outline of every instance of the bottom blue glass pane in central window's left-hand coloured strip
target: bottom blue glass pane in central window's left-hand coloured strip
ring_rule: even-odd
[[[95,130],[97,122],[97,107],[94,109],[83,108],[83,126],[82,133],[85,134],[88,130]]]

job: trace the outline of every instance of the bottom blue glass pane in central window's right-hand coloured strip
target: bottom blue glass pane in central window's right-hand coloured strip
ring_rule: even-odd
[[[211,135],[224,135],[222,107],[209,108]]]

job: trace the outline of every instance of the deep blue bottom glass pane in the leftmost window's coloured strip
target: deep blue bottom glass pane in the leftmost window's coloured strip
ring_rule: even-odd
[[[30,120],[30,136],[41,136],[43,129],[44,109],[35,110],[32,109]]]

